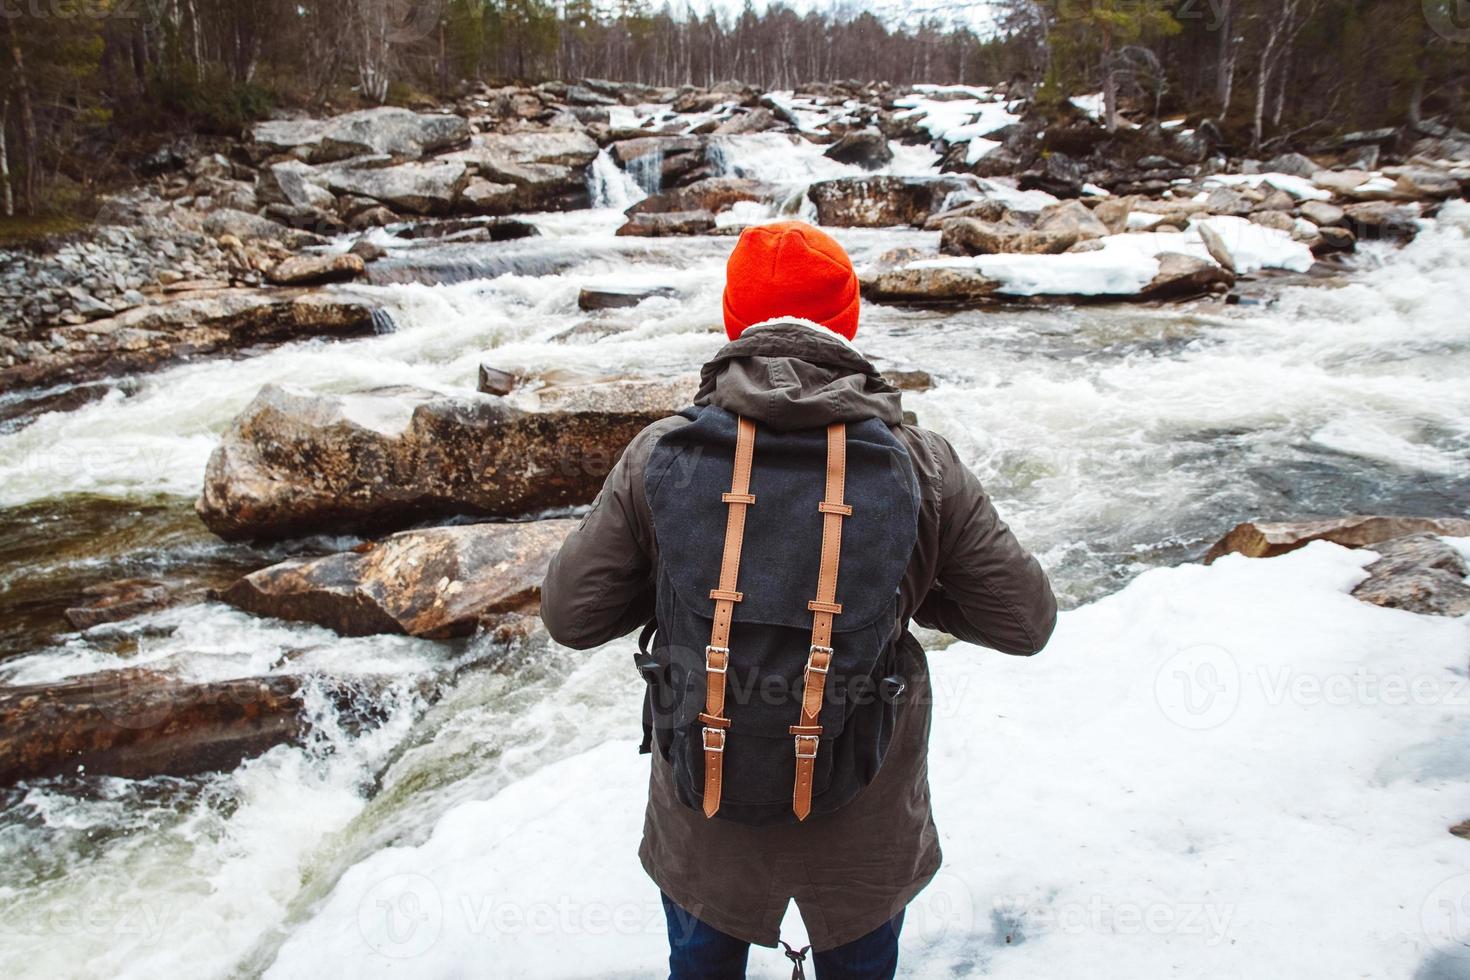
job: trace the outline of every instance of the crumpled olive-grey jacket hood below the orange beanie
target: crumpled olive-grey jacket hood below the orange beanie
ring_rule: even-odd
[[[697,406],[716,406],[772,429],[833,422],[903,422],[898,389],[836,335],[798,322],[754,326],[700,372]]]

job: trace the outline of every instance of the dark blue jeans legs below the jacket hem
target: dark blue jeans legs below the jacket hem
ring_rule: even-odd
[[[663,896],[669,920],[669,980],[742,980],[750,943],[707,926]],[[817,980],[894,980],[904,914],[861,939],[811,954]]]

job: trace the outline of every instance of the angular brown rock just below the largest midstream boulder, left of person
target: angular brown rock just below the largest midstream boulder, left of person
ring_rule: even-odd
[[[535,520],[406,530],[354,551],[262,569],[220,598],[344,636],[469,636],[535,616],[547,564],[575,526]]]

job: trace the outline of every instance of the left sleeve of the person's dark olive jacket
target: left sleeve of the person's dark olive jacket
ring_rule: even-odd
[[[582,523],[551,558],[541,620],[563,646],[589,649],[653,617],[653,519],[644,466],[662,423],[644,429],[607,475]]]

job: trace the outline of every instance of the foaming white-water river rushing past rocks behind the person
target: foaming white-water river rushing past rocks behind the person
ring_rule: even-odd
[[[778,179],[797,185],[814,176],[759,156],[728,166],[785,166]],[[623,203],[637,188],[600,192]],[[6,976],[259,974],[365,857],[423,840],[459,802],[634,736],[628,641],[572,654],[344,639],[216,602],[56,632],[85,585],[218,585],[287,554],[223,544],[193,514],[218,433],[268,382],[450,392],[473,389],[481,363],[550,378],[666,376],[723,342],[732,238],[614,238],[612,207],[529,220],[541,237],[392,244],[375,284],[351,287],[391,313],[391,334],[176,366],[141,376],[128,397],[0,436],[4,683],[119,663],[191,679],[290,667],[384,682],[376,724],[350,724],[323,693],[309,743],[232,773],[76,774],[0,793]],[[938,238],[833,234],[860,267]],[[1470,508],[1470,219],[1458,209],[1405,248],[1366,245],[1355,266],[1230,307],[866,306],[858,345],[883,369],[932,376],[906,407],[954,442],[1076,607],[1141,570],[1197,558],[1248,517]],[[589,285],[675,295],[581,313]],[[450,680],[426,710],[423,677]]]

